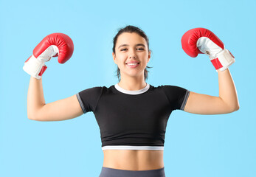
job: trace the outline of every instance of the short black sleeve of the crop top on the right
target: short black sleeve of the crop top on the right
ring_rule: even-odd
[[[179,86],[162,86],[173,110],[184,110],[190,91]]]

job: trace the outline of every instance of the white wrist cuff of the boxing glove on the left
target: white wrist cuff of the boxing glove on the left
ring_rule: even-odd
[[[38,60],[35,58],[34,55],[32,55],[23,66],[23,69],[27,74],[30,74],[32,77],[35,77],[37,79],[41,79],[41,76],[38,74],[41,72],[41,69],[44,66],[44,61]]]

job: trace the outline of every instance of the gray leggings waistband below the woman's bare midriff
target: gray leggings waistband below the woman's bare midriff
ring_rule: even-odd
[[[165,167],[156,170],[119,170],[103,167],[99,177],[165,177]]]

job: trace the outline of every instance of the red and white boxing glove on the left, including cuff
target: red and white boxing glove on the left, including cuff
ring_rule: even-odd
[[[49,61],[52,57],[58,57],[59,63],[65,63],[71,58],[73,51],[74,44],[68,35],[52,33],[35,46],[33,55],[25,61],[23,69],[32,77],[41,79],[47,68],[44,64],[46,61]]]

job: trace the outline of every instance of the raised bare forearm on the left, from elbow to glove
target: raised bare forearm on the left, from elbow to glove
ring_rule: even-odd
[[[27,115],[35,119],[36,113],[45,105],[42,79],[30,77],[30,86],[27,93]]]

